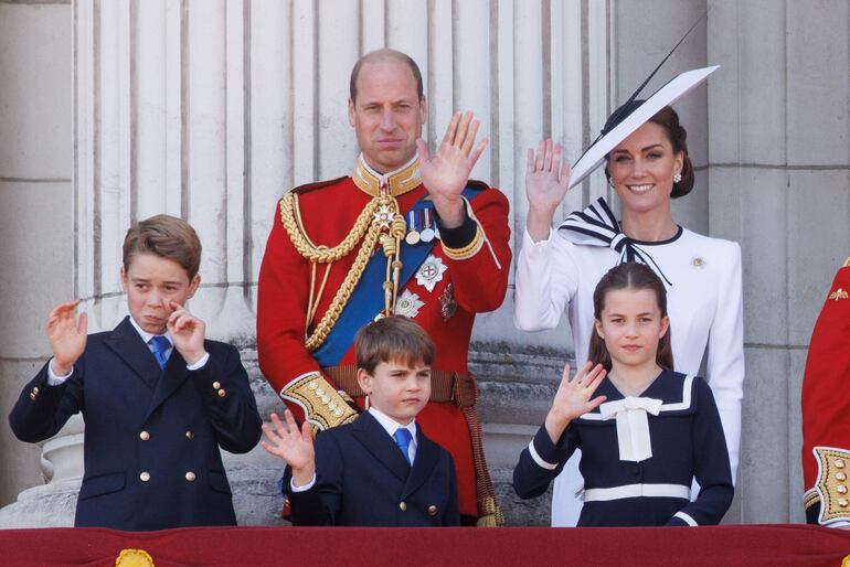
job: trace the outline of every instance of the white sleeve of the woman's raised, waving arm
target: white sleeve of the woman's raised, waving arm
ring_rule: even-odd
[[[513,323],[521,331],[554,329],[577,289],[573,244],[550,231],[535,243],[528,229],[517,261]]]

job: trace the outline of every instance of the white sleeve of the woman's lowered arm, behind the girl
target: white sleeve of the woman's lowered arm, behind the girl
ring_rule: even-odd
[[[718,307],[709,334],[706,381],[718,404],[729,448],[732,482],[741,443],[741,399],[744,396],[744,312],[741,247],[731,243],[729,268],[719,281]]]

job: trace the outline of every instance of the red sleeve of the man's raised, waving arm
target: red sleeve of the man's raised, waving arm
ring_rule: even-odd
[[[508,199],[498,189],[487,189],[470,201],[480,239],[471,250],[443,250],[451,270],[455,299],[472,313],[493,311],[504,301],[511,266]],[[480,245],[478,245],[480,244]]]

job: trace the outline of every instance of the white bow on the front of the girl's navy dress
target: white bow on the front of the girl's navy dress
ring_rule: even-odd
[[[640,462],[652,457],[647,413],[657,416],[661,404],[660,399],[628,396],[599,406],[603,420],[617,417],[619,460]]]

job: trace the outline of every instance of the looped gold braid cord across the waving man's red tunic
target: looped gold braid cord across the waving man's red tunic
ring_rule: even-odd
[[[333,300],[325,312],[312,333],[305,340],[305,346],[312,352],[328,338],[333,325],[337,324],[340,313],[348,304],[351,293],[354,291],[360,278],[363,276],[372,250],[379,239],[387,258],[386,281],[384,289],[384,314],[391,314],[395,308],[395,299],[399,291],[399,277],[402,268],[400,242],[404,238],[407,225],[404,216],[399,213],[399,202],[385,192],[382,192],[363,207],[358,215],[354,226],[340,244],[329,248],[316,246],[300,222],[298,208],[298,195],[289,192],[280,201],[280,222],[284,225],[295,249],[304,258],[314,264],[332,264],[348,256],[360,243],[354,263],[349,268],[346,279],[333,296]],[[322,285],[323,289],[323,285]],[[315,303],[318,304],[318,298]],[[312,306],[314,298],[310,298]],[[310,311],[310,309],[308,309]],[[307,321],[309,327],[310,321]]]

